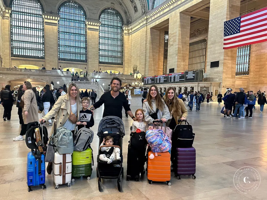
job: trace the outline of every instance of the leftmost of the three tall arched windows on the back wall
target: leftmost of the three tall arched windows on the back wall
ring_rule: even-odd
[[[39,0],[14,0],[10,17],[11,57],[45,57],[44,11]]]

